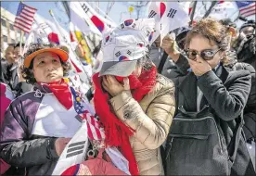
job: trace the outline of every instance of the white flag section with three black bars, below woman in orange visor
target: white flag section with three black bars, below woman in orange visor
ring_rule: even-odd
[[[89,145],[86,121],[66,145],[52,175],[61,175],[65,170],[75,164],[83,162]]]

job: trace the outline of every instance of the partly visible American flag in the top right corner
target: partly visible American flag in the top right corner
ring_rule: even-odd
[[[253,1],[237,1],[237,7],[242,17],[249,17],[256,13],[256,4]]]

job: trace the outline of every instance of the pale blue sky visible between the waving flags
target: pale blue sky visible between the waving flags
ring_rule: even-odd
[[[66,29],[68,29],[69,24],[69,18],[65,12],[64,7],[62,6],[62,3],[60,1],[55,2],[31,2],[31,1],[23,1],[26,5],[32,6],[34,8],[37,8],[37,13],[41,16],[43,16],[45,19],[52,20],[51,16],[49,15],[49,10],[52,9],[54,15],[56,16],[59,24]],[[95,2],[90,2],[91,5],[96,5]],[[106,8],[108,6],[108,2],[99,2],[98,3],[100,8],[103,11],[106,11]],[[115,2],[114,5],[111,8],[111,11],[109,13],[109,18],[112,19],[117,24],[121,23],[124,19],[135,19],[136,18],[136,12],[134,9],[133,13],[128,12],[128,7],[131,5],[136,5],[137,2]],[[233,2],[235,5],[235,2]],[[208,4],[209,5],[209,4]],[[16,14],[17,8],[19,6],[19,1],[2,1],[1,6],[6,8],[6,10],[10,11],[13,14]],[[201,2],[198,2],[197,6],[197,15],[199,15],[199,12],[204,10]],[[147,16],[147,7],[144,7],[140,13],[141,17]],[[226,16],[231,19],[236,19],[238,15],[237,6],[235,5],[235,8],[233,9],[227,9]],[[216,15],[217,16],[217,15]],[[223,17],[223,16],[220,16]],[[253,19],[253,17],[250,17],[249,19]],[[240,20],[237,20],[237,27],[239,27],[243,22]]]

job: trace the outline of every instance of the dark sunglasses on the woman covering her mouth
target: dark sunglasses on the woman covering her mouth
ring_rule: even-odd
[[[220,50],[221,48],[216,50],[206,49],[198,53],[198,51],[188,49],[186,50],[186,56],[191,60],[195,60],[197,55],[204,60],[211,60]]]

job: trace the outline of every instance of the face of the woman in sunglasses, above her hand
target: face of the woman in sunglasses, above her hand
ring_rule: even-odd
[[[195,35],[192,37],[190,44],[188,44],[189,51],[196,51],[198,54],[200,54],[204,50],[212,50],[212,51],[217,51],[220,49],[218,45],[201,35]],[[224,53],[219,50],[214,57],[212,57],[211,60],[206,60],[208,64],[211,66],[211,69],[214,69],[221,61]],[[198,56],[196,57],[196,61],[198,59]],[[203,59],[203,58],[202,58]]]

